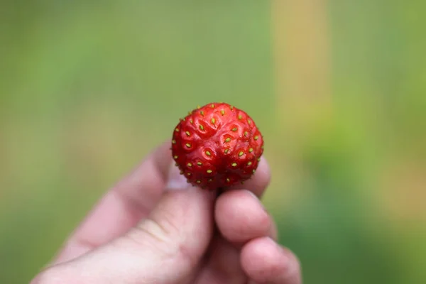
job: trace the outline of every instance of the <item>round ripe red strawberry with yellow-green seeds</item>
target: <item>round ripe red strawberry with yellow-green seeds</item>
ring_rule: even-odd
[[[214,190],[253,175],[263,154],[263,136],[246,112],[212,103],[180,120],[172,154],[188,182]]]

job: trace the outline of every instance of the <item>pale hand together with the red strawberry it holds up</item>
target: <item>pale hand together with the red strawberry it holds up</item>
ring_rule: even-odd
[[[173,148],[179,167],[193,175],[188,180],[211,190],[187,183],[164,143],[104,195],[31,284],[301,284],[297,258],[276,243],[273,219],[258,200],[270,177],[266,160],[258,161],[261,134],[242,111],[222,116],[230,106],[215,107],[185,118],[173,144],[180,145]],[[243,180],[249,190],[219,197],[212,190]]]

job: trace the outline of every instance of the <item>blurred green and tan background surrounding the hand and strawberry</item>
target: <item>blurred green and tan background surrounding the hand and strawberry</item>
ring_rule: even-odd
[[[425,1],[2,1],[0,283],[197,104],[246,110],[305,283],[425,283]]]

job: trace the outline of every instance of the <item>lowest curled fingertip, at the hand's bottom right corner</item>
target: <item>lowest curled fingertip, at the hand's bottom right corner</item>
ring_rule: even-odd
[[[268,237],[249,241],[241,250],[241,266],[255,283],[301,284],[295,255]]]

